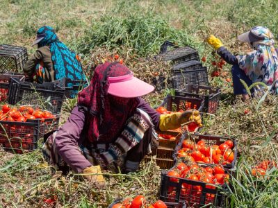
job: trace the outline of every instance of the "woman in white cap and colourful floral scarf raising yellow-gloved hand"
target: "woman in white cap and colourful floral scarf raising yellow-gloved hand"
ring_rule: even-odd
[[[211,35],[207,42],[228,64],[232,64],[234,94],[241,94],[243,101],[249,98],[247,91],[240,82],[244,80],[248,86],[261,82],[268,85],[273,94],[278,94],[278,58],[274,48],[272,33],[263,26],[256,26],[247,33],[238,36],[240,42],[248,42],[254,51],[246,55],[233,55],[222,44],[221,40]]]

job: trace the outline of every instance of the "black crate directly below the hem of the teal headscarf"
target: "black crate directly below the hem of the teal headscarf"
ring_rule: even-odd
[[[88,86],[87,80],[72,80],[70,78],[55,80],[53,83],[65,89],[66,98],[74,98],[79,91]]]

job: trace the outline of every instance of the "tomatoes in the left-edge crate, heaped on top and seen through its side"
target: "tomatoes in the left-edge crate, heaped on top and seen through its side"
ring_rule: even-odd
[[[14,123],[2,123],[0,144],[4,148],[13,148],[17,153],[22,153],[22,150],[33,150],[33,127],[17,122],[35,119],[44,122],[44,119],[54,119],[54,115],[40,109],[34,110],[31,106],[10,107],[10,105],[3,105],[0,110],[0,120]]]

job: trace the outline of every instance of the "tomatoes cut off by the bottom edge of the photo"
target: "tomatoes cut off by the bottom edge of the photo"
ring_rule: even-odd
[[[161,200],[149,206],[147,204],[146,198],[142,195],[138,195],[133,199],[127,198],[122,203],[113,205],[112,208],[167,208],[167,205]]]

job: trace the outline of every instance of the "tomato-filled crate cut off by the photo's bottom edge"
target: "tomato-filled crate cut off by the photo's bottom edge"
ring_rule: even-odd
[[[138,195],[135,198],[119,198],[115,200],[108,208],[186,208],[185,202],[163,202],[157,200],[152,203],[149,202],[145,196]]]

